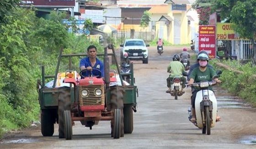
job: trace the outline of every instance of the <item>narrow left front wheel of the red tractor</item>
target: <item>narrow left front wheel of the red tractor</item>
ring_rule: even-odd
[[[72,119],[70,110],[64,111],[64,134],[66,139],[72,139]]]

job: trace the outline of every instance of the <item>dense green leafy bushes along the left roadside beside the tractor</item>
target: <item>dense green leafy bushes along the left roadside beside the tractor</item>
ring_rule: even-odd
[[[10,129],[27,127],[39,119],[36,83],[41,78],[40,66],[46,66],[47,75],[54,75],[62,47],[64,54],[85,53],[89,45],[96,45],[98,53],[103,51],[99,43],[69,34],[60,21],[63,14],[44,20],[32,9],[10,11],[14,15],[5,15],[7,23],[0,22],[0,138]],[[73,70],[79,70],[79,60],[72,58]],[[62,64],[60,71],[67,70],[68,59]]]

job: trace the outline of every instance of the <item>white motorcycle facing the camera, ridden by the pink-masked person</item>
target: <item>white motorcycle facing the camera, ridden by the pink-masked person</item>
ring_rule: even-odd
[[[219,71],[219,75],[221,71]],[[211,134],[211,128],[216,124],[217,116],[217,100],[209,86],[217,84],[215,81],[201,81],[200,83],[193,83],[188,87],[199,87],[200,91],[197,92],[195,99],[196,122],[195,126],[202,129],[202,134]],[[190,120],[192,118],[191,108],[188,109]]]

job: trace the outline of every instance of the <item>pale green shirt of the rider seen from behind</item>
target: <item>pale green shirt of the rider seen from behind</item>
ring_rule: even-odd
[[[185,71],[184,66],[179,61],[171,61],[168,65],[167,72],[171,73],[170,77],[182,77],[182,72]]]

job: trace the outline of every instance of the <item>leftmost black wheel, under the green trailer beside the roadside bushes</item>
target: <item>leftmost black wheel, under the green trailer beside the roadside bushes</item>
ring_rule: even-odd
[[[54,116],[53,110],[41,110],[41,133],[43,136],[53,136],[54,133]]]

